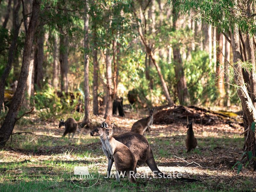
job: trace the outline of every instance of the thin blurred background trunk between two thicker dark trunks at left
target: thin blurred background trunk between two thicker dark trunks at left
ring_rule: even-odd
[[[55,91],[58,88],[58,41],[57,36],[54,36],[53,39],[53,74],[52,74],[52,86],[54,87]]]

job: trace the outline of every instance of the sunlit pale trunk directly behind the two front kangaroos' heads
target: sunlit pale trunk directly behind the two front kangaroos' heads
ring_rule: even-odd
[[[111,67],[111,57],[109,51],[105,52],[105,61],[106,61],[106,78],[107,78],[107,104],[105,109],[104,119],[110,121],[112,117],[112,108],[113,108],[113,94],[112,94],[112,67]]]

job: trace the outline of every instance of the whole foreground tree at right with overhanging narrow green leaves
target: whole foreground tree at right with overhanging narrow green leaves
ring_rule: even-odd
[[[196,20],[218,27],[230,42],[233,53],[234,86],[241,100],[244,120],[244,154],[242,162],[253,164],[256,170],[256,74],[255,74],[255,1],[249,0],[169,0],[177,12],[195,10]],[[239,165],[240,167],[242,164]]]

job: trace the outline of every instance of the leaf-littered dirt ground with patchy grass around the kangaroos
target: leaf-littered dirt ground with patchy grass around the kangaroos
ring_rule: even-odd
[[[134,122],[147,116],[147,110],[125,115],[125,117],[114,116],[112,118],[116,125],[113,129],[115,135],[129,132]],[[74,161],[83,160],[99,164],[102,174],[106,174],[107,159],[102,152],[100,139],[90,136],[93,127],[79,129],[74,139],[68,139],[67,137],[61,138],[64,127],[58,128],[57,121],[46,123],[33,116],[26,118],[32,123],[16,125],[13,133],[33,132],[36,135],[13,135],[6,147],[0,150],[0,185],[5,184],[5,189],[8,184],[13,186],[14,190],[18,190],[20,187],[17,181],[24,180],[23,173],[26,174],[25,180],[29,182],[36,180],[32,178],[32,175],[36,174],[38,166],[41,165],[43,166],[41,174],[52,175],[50,177],[58,175],[58,170],[49,165],[50,163],[44,166],[45,162],[51,161],[72,164]],[[103,116],[92,116],[91,121],[94,125],[100,124]],[[256,191],[256,172],[252,171],[252,167],[243,167],[239,174],[237,174],[237,167],[231,169],[243,153],[244,139],[243,135],[240,136],[243,127],[231,127],[225,123],[193,124],[198,145],[194,151],[186,153],[186,125],[187,121],[184,119],[172,124],[153,124],[151,132],[144,136],[149,141],[160,171],[165,173],[177,171],[182,173],[183,177],[199,181],[188,185],[173,180],[166,182],[159,179],[145,179],[143,181],[147,183],[147,186],[135,188],[136,190],[151,191],[150,184],[150,186],[161,186],[156,188],[158,191],[167,191],[167,189],[170,191]],[[30,169],[26,170],[24,167],[30,167]],[[140,167],[137,171],[152,175],[148,166]],[[103,180],[98,188],[103,187],[104,182],[107,185],[109,181]],[[183,187],[177,188],[177,185]],[[113,190],[115,188],[116,186]],[[155,190],[154,187],[153,189]],[[125,188],[120,187],[120,191],[122,190],[125,191]]]

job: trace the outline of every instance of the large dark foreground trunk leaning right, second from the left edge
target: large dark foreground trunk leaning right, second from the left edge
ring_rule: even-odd
[[[31,20],[29,22],[28,32],[26,34],[23,58],[22,58],[22,66],[20,71],[20,78],[12,98],[12,104],[9,108],[9,111],[5,117],[4,123],[0,129],[0,147],[4,147],[7,140],[10,138],[12,134],[12,130],[16,123],[16,118],[20,109],[20,105],[25,93],[26,81],[28,78],[28,67],[31,56],[31,48],[33,45],[34,33],[36,30],[36,23],[38,20],[40,5],[36,0],[33,0],[33,11]]]

